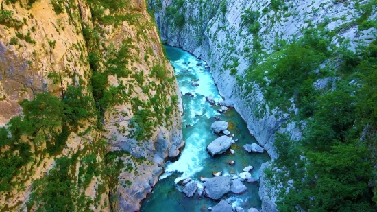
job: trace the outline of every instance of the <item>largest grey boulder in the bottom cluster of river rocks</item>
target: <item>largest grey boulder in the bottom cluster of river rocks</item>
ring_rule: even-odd
[[[212,200],[219,200],[224,194],[230,191],[230,178],[217,176],[204,182],[204,193]]]

